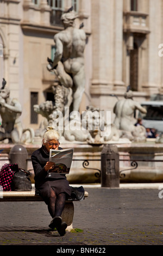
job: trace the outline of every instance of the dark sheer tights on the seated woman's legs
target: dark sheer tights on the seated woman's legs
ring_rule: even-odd
[[[53,188],[51,188],[51,196],[48,202],[48,211],[49,211],[49,214],[52,216],[52,218],[56,216],[61,216],[62,211],[64,210],[64,207],[65,207],[65,200],[66,200],[65,193],[60,193],[57,196]]]

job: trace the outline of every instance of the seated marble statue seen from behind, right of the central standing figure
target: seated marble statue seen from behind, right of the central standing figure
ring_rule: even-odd
[[[124,99],[118,100],[114,106],[114,124],[120,130],[120,137],[129,137],[131,141],[143,141],[146,139],[146,129],[142,125],[135,126],[134,112],[138,109],[141,113],[147,113],[139,102],[133,100],[131,90],[124,94]]]

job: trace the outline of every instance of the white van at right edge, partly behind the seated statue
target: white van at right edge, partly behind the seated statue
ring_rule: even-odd
[[[141,106],[147,109],[147,114],[139,112],[139,118],[146,128],[163,132],[163,101],[145,101]]]

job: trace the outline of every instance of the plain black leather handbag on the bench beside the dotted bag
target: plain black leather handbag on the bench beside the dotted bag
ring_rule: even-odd
[[[11,190],[31,191],[32,182],[30,181],[29,174],[28,171],[18,168],[12,177]]]

